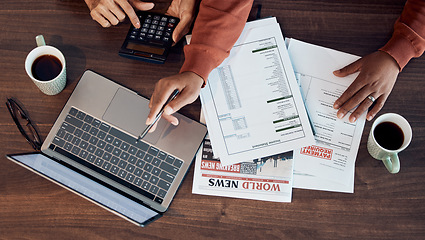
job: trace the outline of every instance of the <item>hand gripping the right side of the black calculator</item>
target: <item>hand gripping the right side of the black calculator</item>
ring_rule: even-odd
[[[179,24],[173,32],[173,41],[177,43],[189,32],[190,26],[195,18],[195,5],[197,0],[173,0],[166,14],[180,18]]]

